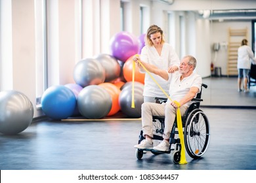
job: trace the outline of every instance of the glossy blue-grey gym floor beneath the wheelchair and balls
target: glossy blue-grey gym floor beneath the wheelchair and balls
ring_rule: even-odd
[[[228,78],[223,80],[230,83]],[[221,100],[219,103],[241,101],[241,95],[244,102],[247,100],[246,96],[249,101],[255,101],[254,89],[250,93],[238,93],[236,87],[232,90],[234,93],[231,95],[228,90],[225,101],[218,99]],[[225,92],[226,90],[221,90],[222,95]],[[256,103],[249,106],[253,104]],[[234,108],[218,105],[202,105],[210,122],[209,148],[200,159],[194,160],[186,155],[188,163],[184,165],[173,163],[171,154],[155,156],[147,152],[138,160],[133,148],[137,144],[141,128],[141,122],[137,119],[40,120],[33,122],[19,135],[0,135],[0,169],[255,170],[256,109],[246,108],[245,103]]]

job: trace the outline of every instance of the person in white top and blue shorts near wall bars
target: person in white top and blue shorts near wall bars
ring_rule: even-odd
[[[243,39],[241,46],[238,48],[238,92],[242,92],[242,78],[244,78],[244,92],[249,92],[247,83],[249,79],[249,71],[251,63],[256,64],[256,58],[253,51],[247,45],[247,39]]]

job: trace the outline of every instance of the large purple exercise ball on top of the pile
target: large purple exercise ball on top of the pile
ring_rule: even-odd
[[[116,59],[125,62],[138,53],[139,41],[135,35],[127,31],[116,33],[110,39],[110,52]]]

